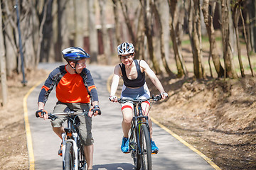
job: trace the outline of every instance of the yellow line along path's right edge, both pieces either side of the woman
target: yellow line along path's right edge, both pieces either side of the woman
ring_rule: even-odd
[[[113,74],[107,79],[107,91],[109,91],[110,93],[110,81],[113,77]],[[169,130],[169,128],[166,128],[164,125],[162,125],[161,123],[159,123],[157,120],[155,120],[154,118],[151,117],[151,120],[154,124],[158,125],[160,128],[162,128],[163,130],[165,130],[166,132],[168,132],[170,135],[172,135],[173,137],[176,138],[176,140],[178,140],[179,142],[183,143],[183,145],[185,145],[186,147],[188,147],[189,149],[191,149],[193,152],[196,152],[196,154],[198,154],[200,157],[202,157],[208,164],[210,164],[210,166],[213,167],[213,169],[215,170],[221,170],[219,166],[217,166],[212,160],[210,160],[208,157],[206,157],[205,154],[203,154],[202,152],[200,152],[198,149],[196,149],[195,147],[193,147],[192,145],[190,145],[188,142],[186,142],[185,140],[183,140],[180,136],[178,136],[176,133],[172,132],[171,130]]]

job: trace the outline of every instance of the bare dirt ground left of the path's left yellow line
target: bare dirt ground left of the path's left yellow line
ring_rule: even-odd
[[[26,86],[21,84],[22,75],[8,79],[9,102],[0,106],[0,169],[28,169],[23,97],[38,81],[46,79],[47,74],[43,70],[26,72]]]

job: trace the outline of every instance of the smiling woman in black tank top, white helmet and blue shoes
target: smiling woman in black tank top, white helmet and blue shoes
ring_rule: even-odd
[[[150,69],[149,65],[144,60],[134,60],[134,45],[132,43],[123,42],[117,47],[117,53],[120,57],[122,63],[117,64],[114,67],[114,76],[112,79],[111,92],[110,92],[110,101],[117,102],[117,96],[115,93],[119,84],[119,78],[122,77],[124,84],[122,86],[122,97],[129,97],[134,99],[149,98],[150,92],[146,86],[145,73],[149,76],[152,83],[160,91],[162,98],[167,98],[168,94],[164,91],[161,82],[156,77],[156,74]],[[144,115],[149,114],[149,102],[142,103],[142,110]],[[129,152],[129,140],[128,133],[131,128],[132,123],[132,103],[122,103],[122,130],[124,137],[122,138],[121,150],[124,153]],[[154,141],[152,140],[152,122],[149,117],[149,129],[151,137],[151,150],[152,152],[158,152],[159,148],[156,147]]]

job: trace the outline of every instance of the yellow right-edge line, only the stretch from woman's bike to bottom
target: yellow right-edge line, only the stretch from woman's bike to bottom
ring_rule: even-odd
[[[164,125],[162,125],[161,123],[159,123],[157,120],[155,120],[154,118],[151,117],[152,122],[154,122],[156,125],[159,125],[160,128],[164,129],[166,132],[168,132],[169,134],[171,134],[173,137],[175,137],[178,141],[180,141],[181,143],[183,143],[183,145],[186,145],[186,147],[188,147],[189,149],[193,150],[193,152],[196,152],[196,154],[199,154],[200,157],[202,157],[203,159],[206,160],[206,162],[208,162],[208,164],[210,164],[210,166],[213,166],[214,169],[216,170],[221,170],[220,167],[218,167],[216,164],[214,164],[214,162],[212,162],[208,157],[206,157],[205,154],[203,154],[202,152],[198,151],[198,149],[196,149],[195,147],[193,147],[192,145],[190,145],[188,142],[186,142],[185,140],[183,140],[181,137],[179,137],[178,135],[176,135],[176,133],[172,132],[171,130],[169,130],[168,128],[166,128]]]

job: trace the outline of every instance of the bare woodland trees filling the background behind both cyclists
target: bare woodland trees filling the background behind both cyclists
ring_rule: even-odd
[[[233,8],[233,15],[236,16],[233,18],[230,17],[230,8],[233,7],[230,0],[23,0],[21,2],[18,7],[21,8],[19,14],[23,40],[22,52],[26,69],[33,69],[38,62],[63,61],[60,51],[63,47],[73,45],[84,47],[91,55],[91,62],[102,62],[102,60],[97,60],[99,54],[101,56],[103,53],[102,56],[110,56],[106,58],[112,59],[117,43],[129,41],[134,43],[137,57],[146,60],[156,74],[162,73],[171,79],[171,70],[174,69],[171,68],[171,60],[174,59],[177,76],[183,77],[188,72],[187,63],[183,59],[184,48],[181,42],[189,37],[191,48],[188,47],[188,50],[192,52],[189,57],[193,59],[193,74],[196,78],[203,79],[206,78],[207,72],[203,65],[205,58],[203,58],[202,51],[202,19],[206,23],[210,45],[209,67],[211,57],[218,78],[238,78],[233,60],[236,48],[233,47],[230,38],[239,38],[236,45],[239,45],[241,41],[246,43],[249,62],[250,52],[256,44],[256,32],[253,25],[255,23],[255,0],[235,1],[239,4],[239,8]],[[101,3],[104,4],[100,8]],[[166,3],[169,4],[167,10],[161,8]],[[10,77],[13,72],[21,73],[21,59],[18,57],[17,17],[13,6],[15,6],[14,1],[1,1],[3,23],[1,33],[6,52],[7,77]],[[100,9],[102,9],[101,16]],[[219,11],[215,12],[216,10]],[[202,11],[203,15],[201,15]],[[186,12],[185,15],[184,12]],[[169,24],[166,24],[167,17],[164,18],[164,15],[169,15]],[[231,33],[234,28],[236,36]],[[164,33],[164,30],[169,32]],[[216,40],[216,30],[222,33],[222,42]],[[171,35],[169,37],[171,42],[164,41],[167,40],[165,37],[167,35],[168,37]],[[110,53],[107,54],[108,52]],[[222,57],[224,69],[220,64]],[[241,67],[242,56],[240,57],[239,50],[238,58],[241,77],[244,77],[245,73],[242,73],[242,69],[246,67]],[[107,63],[112,64],[114,61],[108,60]],[[250,69],[253,76],[252,64],[250,63]],[[210,75],[214,77],[211,67]]]

